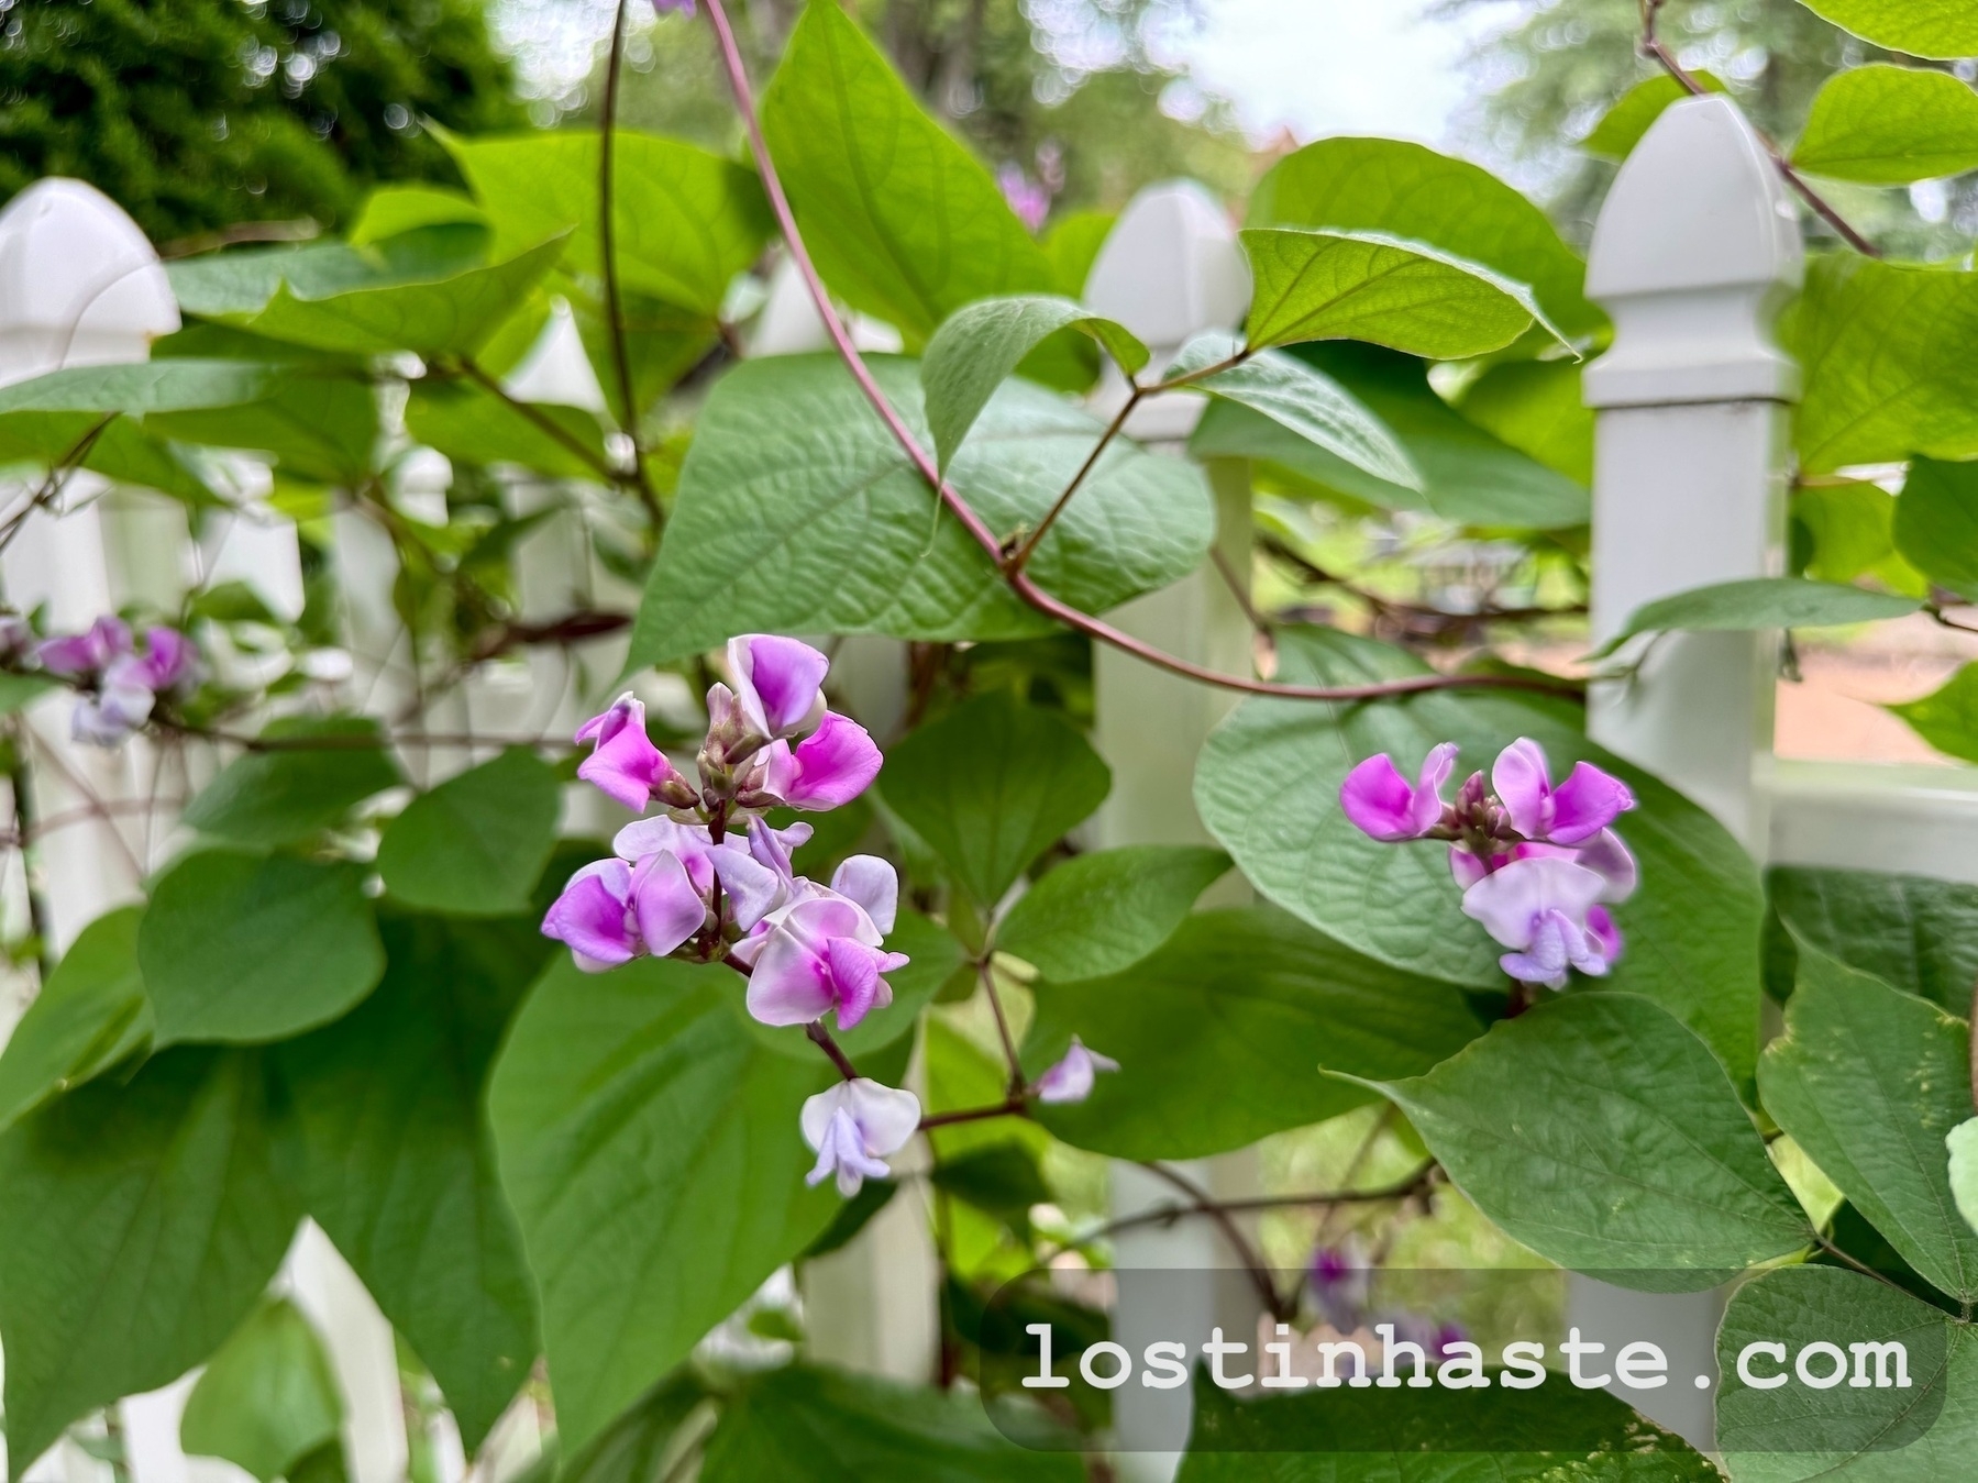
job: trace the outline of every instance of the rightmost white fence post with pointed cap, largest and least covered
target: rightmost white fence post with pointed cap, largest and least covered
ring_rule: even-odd
[[[1586,293],[1614,318],[1614,346],[1584,378],[1598,419],[1596,643],[1642,603],[1782,571],[1800,374],[1772,322],[1800,277],[1798,218],[1751,125],[1723,97],[1673,105],[1622,166],[1588,253]],[[1588,732],[1762,860],[1776,670],[1776,633],[1665,635],[1630,680],[1594,686]],[[1667,1337],[1703,1354],[1721,1309],[1721,1291],[1663,1297],[1584,1277],[1569,1299],[1596,1341]],[[1711,1390],[1626,1398],[1709,1445]]]

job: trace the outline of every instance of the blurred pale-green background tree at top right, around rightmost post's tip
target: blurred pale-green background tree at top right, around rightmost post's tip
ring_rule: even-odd
[[[1438,0],[1440,14],[1501,8],[1501,0]],[[1753,123],[1792,142],[1814,93],[1834,73],[1885,51],[1820,20],[1800,0],[1669,0],[1662,38],[1685,67],[1721,77]],[[1614,164],[1576,148],[1636,83],[1656,75],[1638,49],[1638,0],[1535,0],[1472,57],[1474,123],[1485,150],[1527,190],[1545,196],[1580,241],[1614,178]],[[1927,65],[1927,63],[1925,63]],[[1857,227],[1889,251],[1915,257],[1962,253],[1978,231],[1978,192],[1968,182],[1909,190],[1822,186]],[[1824,235],[1824,225],[1812,227]]]

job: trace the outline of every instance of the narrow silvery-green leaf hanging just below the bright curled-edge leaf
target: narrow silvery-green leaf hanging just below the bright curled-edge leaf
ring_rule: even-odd
[[[1222,330],[1197,334],[1181,348],[1167,374],[1173,380],[1209,370],[1234,358],[1240,348],[1240,340]],[[1191,386],[1270,417],[1321,455],[1339,459],[1373,480],[1408,490],[1422,488],[1420,471],[1389,427],[1339,382],[1298,356],[1260,350],[1242,364]]]

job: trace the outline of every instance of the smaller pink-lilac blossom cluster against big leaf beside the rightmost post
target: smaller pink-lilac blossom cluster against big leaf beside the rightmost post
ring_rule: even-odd
[[[1610,825],[1634,795],[1588,761],[1553,785],[1545,749],[1519,738],[1446,803],[1456,743],[1432,747],[1410,783],[1387,753],[1339,785],[1339,807],[1369,838],[1450,844],[1450,874],[1464,888],[1464,916],[1509,951],[1497,959],[1519,983],[1565,989],[1571,969],[1606,975],[1622,935],[1610,904],[1636,886],[1636,864]]]

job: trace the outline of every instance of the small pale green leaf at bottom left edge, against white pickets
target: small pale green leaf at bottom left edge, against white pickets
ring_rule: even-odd
[[[330,1356],[295,1303],[267,1297],[206,1362],[178,1420],[180,1445],[261,1479],[338,1441],[344,1398]]]

